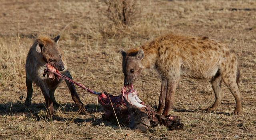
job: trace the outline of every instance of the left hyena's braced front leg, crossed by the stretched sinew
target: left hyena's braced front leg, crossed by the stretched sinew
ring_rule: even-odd
[[[65,72],[62,73],[63,75],[67,76],[68,78],[70,79],[73,79],[70,72],[67,70]],[[71,96],[72,96],[72,99],[73,101],[76,103],[76,105],[79,107],[79,112],[82,112],[82,113],[86,113],[86,109],[85,109],[85,106],[84,104],[82,103],[82,101],[80,100],[77,92],[76,92],[76,87],[74,86],[73,83],[70,83],[68,80],[65,80],[69,90],[70,90],[70,93],[71,93]]]

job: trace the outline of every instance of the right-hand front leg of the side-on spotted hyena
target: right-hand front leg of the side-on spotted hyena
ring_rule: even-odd
[[[165,98],[165,106],[163,115],[169,115],[172,105],[174,103],[174,94],[176,91],[176,86],[178,85],[179,78],[167,79],[167,92]]]

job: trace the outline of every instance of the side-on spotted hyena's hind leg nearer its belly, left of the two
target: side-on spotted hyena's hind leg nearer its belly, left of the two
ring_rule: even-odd
[[[212,89],[215,93],[215,102],[213,103],[212,107],[208,107],[206,109],[206,111],[208,111],[208,112],[215,111],[215,109],[218,107],[222,97],[224,96],[222,89],[221,89],[221,82],[222,82],[221,76],[218,76],[211,81]]]

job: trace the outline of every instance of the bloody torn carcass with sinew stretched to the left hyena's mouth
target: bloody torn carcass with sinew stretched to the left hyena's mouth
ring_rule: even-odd
[[[100,93],[86,88],[84,85],[74,82],[73,80],[63,76],[50,64],[46,65],[44,76],[49,78],[62,78],[78,85],[86,91],[98,95],[98,101],[105,110],[102,118],[107,121],[116,123],[116,117],[121,124],[128,125],[132,129],[139,129],[146,132],[148,128],[162,124],[167,126],[169,130],[181,129],[184,124],[180,122],[180,118],[174,115],[162,116],[156,114],[152,107],[147,106],[138,97],[138,92],[132,85],[124,86],[121,89],[121,95],[114,96],[106,92]],[[115,117],[116,114],[116,117]]]

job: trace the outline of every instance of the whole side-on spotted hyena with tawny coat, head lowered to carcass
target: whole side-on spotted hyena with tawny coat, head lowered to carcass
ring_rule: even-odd
[[[140,48],[121,50],[124,85],[133,84],[144,68],[156,69],[162,78],[157,113],[168,115],[181,76],[206,79],[211,82],[215,102],[207,111],[215,111],[224,93],[222,81],[236,100],[234,115],[241,113],[242,95],[238,89],[240,71],[236,56],[228,46],[208,37],[164,35]]]

